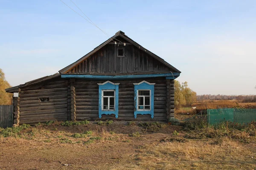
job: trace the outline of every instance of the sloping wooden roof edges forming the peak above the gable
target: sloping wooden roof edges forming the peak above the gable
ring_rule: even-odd
[[[147,53],[149,56],[153,57],[154,59],[157,59],[159,62],[161,62],[163,65],[166,65],[167,67],[171,68],[172,70],[174,70],[177,73],[181,73],[177,68],[173,67],[172,65],[170,65],[168,62],[166,62],[164,59],[162,59],[161,57],[157,56],[156,54],[152,53],[151,51],[148,51],[146,48],[143,48],[140,44],[138,44],[137,42],[135,42],[134,40],[132,40],[131,38],[129,38],[127,35],[125,35],[124,32],[122,31],[118,31],[116,32],[116,34],[109,38],[107,41],[103,42],[101,45],[97,46],[96,48],[94,48],[92,51],[90,51],[88,54],[86,54],[84,57],[81,57],[79,60],[77,60],[76,62],[73,62],[72,64],[68,65],[67,67],[61,69],[59,71],[60,74],[66,74],[68,71],[70,71],[72,68],[74,68],[76,65],[79,65],[79,63],[81,63],[82,61],[84,61],[85,59],[87,59],[88,57],[90,57],[92,54],[96,53],[97,51],[99,51],[99,49],[101,49],[103,46],[107,45],[109,42],[111,42],[114,38],[116,37],[121,37],[122,39],[130,42],[132,45],[136,46],[137,48],[139,48],[140,50],[144,51],[145,53]]]

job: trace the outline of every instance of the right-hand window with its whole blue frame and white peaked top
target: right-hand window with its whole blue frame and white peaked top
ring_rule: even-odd
[[[140,83],[134,83],[134,118],[137,118],[137,114],[150,114],[151,118],[154,117],[154,85],[155,83],[149,83],[142,81]]]

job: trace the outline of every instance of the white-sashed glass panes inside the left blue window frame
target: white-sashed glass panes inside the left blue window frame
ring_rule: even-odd
[[[115,91],[102,90],[102,110],[114,111],[115,110]]]

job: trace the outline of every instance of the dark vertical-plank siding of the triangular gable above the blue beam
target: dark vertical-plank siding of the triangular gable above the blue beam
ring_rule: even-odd
[[[123,45],[122,45],[123,46]],[[105,45],[102,49],[92,54],[67,74],[116,74],[137,71],[169,71],[157,59],[149,56],[134,45],[126,45],[125,57],[116,57],[114,44]]]

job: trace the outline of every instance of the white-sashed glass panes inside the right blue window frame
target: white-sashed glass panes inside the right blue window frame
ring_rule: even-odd
[[[138,110],[150,110],[150,90],[138,90]]]

